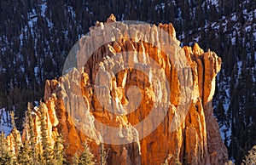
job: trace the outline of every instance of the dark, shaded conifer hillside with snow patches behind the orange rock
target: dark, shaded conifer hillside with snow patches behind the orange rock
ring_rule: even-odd
[[[44,81],[61,76],[73,44],[112,13],[171,22],[183,46],[197,42],[222,58],[214,113],[230,159],[240,164],[256,145],[255,0],[1,1],[0,109],[15,110],[21,130],[26,103],[42,100]]]

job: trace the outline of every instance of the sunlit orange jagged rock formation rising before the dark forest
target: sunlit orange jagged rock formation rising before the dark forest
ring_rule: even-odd
[[[49,136],[63,135],[69,160],[87,141],[97,160],[104,143],[108,164],[227,162],[212,108],[217,54],[180,48],[172,24],[115,23],[91,27],[73,50],[77,69],[46,81]]]

